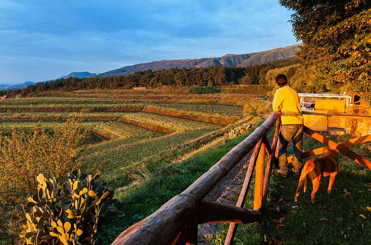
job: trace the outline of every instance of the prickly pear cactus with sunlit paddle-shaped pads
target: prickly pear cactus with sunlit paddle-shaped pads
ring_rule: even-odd
[[[82,239],[94,244],[99,221],[113,219],[105,217],[106,210],[124,216],[117,208],[109,207],[118,201],[113,199],[114,191],[105,188],[106,182],[98,178],[89,171],[71,172],[62,191],[58,179],[37,176],[37,193],[28,195],[26,205],[16,206],[24,211],[20,222],[24,244],[79,245]]]

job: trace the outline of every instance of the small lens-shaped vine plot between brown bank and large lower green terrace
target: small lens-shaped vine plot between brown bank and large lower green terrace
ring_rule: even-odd
[[[105,122],[96,127],[114,134],[120,138],[153,138],[164,135],[164,133],[148,130],[126,122]]]

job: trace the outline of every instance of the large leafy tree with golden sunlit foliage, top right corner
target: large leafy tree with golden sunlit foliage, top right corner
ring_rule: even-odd
[[[309,86],[371,90],[371,1],[279,2],[294,11],[290,22],[297,40],[304,43],[297,56]]]

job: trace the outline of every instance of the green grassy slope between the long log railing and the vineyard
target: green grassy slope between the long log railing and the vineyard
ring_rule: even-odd
[[[97,243],[111,244],[124,229],[144,219],[170,198],[180,194],[251,132],[252,130],[235,138],[233,144],[230,141],[216,145],[184,161],[160,167],[143,184],[116,191],[116,198],[122,202],[120,208],[125,212],[125,216],[99,229]]]

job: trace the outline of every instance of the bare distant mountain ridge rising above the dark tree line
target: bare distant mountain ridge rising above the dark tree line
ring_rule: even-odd
[[[91,77],[108,77],[116,75],[127,75],[134,73],[135,71],[144,71],[151,69],[162,70],[171,69],[174,67],[178,68],[189,68],[189,67],[208,67],[213,65],[222,64],[223,66],[231,67],[233,65],[246,67],[249,65],[263,64],[272,61],[281,60],[283,58],[296,58],[295,53],[299,51],[300,44],[295,44],[292,46],[284,48],[275,48],[272,50],[250,53],[250,54],[226,54],[218,58],[200,58],[200,59],[187,59],[187,60],[161,60],[152,61],[149,63],[141,63],[133,66],[125,66],[116,70],[107,71],[101,74],[93,74]],[[73,74],[73,73],[71,73]]]

